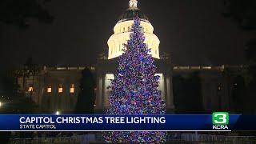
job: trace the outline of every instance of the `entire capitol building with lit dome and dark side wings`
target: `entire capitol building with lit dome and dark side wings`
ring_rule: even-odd
[[[162,55],[161,43],[157,35],[154,34],[154,26],[151,24],[146,14],[138,8],[137,0],[130,0],[129,7],[118,18],[114,26],[114,32],[110,36],[108,44],[108,54],[99,58],[95,66],[90,66],[90,70],[96,75],[97,87],[95,110],[102,113],[109,106],[108,98],[111,79],[118,67],[118,57],[122,55],[123,44],[130,38],[131,26],[134,22],[134,15],[141,18],[142,30],[145,33],[145,43],[151,49],[150,54],[155,60],[157,74],[160,76],[158,89],[162,91],[162,97],[166,100],[167,112],[175,113],[175,98],[173,82],[174,76],[186,77],[188,74],[198,72],[201,78],[202,106],[204,110],[226,110],[231,105],[230,97],[227,94],[228,86],[222,72],[228,67],[232,70],[241,70],[241,66],[174,66],[170,58]],[[34,102],[38,103],[43,110],[49,113],[61,111],[70,114],[74,110],[79,93],[79,80],[82,70],[85,67],[48,67],[42,66],[42,70],[35,76],[32,85],[32,76],[25,79],[18,78],[22,86],[25,83]],[[188,95],[187,97],[190,97]],[[210,104],[209,104],[210,103]]]

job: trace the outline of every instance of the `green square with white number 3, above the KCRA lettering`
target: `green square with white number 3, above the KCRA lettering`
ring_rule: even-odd
[[[230,122],[229,113],[216,112],[212,115],[214,125],[228,125]]]

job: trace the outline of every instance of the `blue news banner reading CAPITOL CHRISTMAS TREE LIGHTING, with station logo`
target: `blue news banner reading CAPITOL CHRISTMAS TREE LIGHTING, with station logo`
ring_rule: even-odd
[[[0,115],[0,131],[232,131],[256,130],[256,116]]]

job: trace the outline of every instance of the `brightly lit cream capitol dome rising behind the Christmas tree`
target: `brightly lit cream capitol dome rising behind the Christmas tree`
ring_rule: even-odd
[[[138,9],[138,1],[130,0],[130,7],[121,15],[117,24],[114,26],[114,34],[110,36],[107,44],[109,46],[108,59],[118,58],[123,53],[124,46],[130,39],[130,30],[134,24],[134,15],[141,18],[142,30],[145,34],[145,43],[150,48],[150,54],[153,58],[159,57],[160,40],[154,34],[154,27],[149,22],[145,14]]]

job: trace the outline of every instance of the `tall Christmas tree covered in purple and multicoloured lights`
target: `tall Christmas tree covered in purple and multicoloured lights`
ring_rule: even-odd
[[[165,114],[166,103],[158,90],[159,77],[155,76],[154,58],[144,43],[145,37],[139,18],[134,19],[130,40],[118,60],[117,74],[110,84],[112,115]],[[165,142],[166,132],[107,132],[106,142]]]

